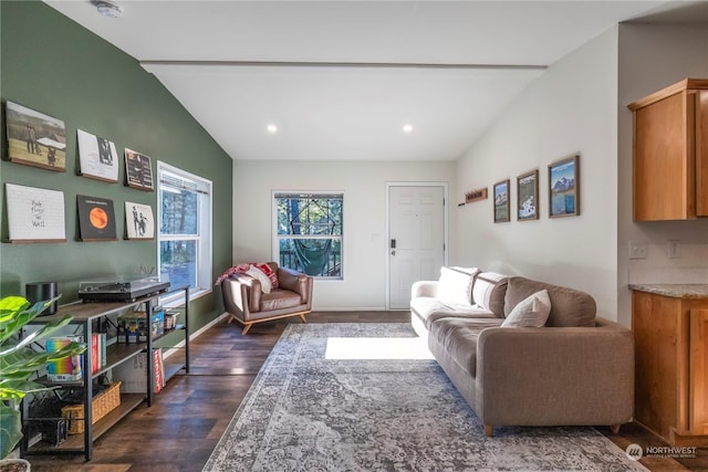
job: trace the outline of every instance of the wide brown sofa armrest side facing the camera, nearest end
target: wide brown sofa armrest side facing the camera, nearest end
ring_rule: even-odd
[[[634,337],[625,326],[596,318],[594,327],[492,327],[480,333],[477,347],[476,402],[485,424],[621,424],[632,418]]]

